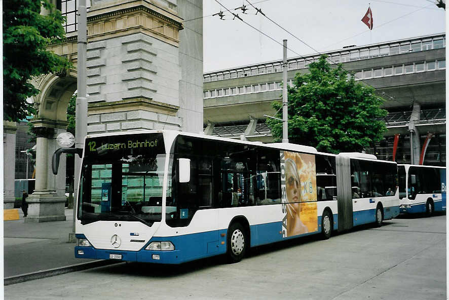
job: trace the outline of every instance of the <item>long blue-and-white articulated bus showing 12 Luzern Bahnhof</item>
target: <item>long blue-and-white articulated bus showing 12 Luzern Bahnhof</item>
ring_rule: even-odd
[[[79,258],[180,264],[399,214],[397,165],[168,130],[89,135]]]

